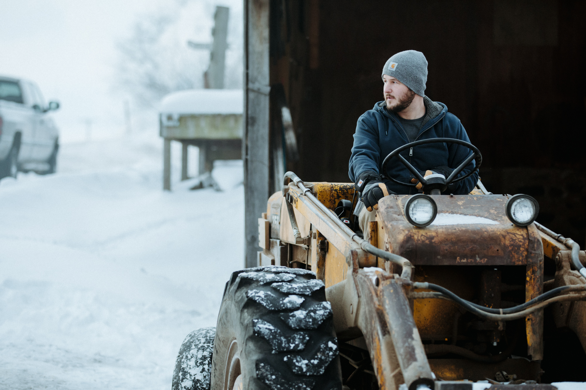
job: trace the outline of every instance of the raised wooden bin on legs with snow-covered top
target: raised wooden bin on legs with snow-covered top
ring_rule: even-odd
[[[171,190],[171,141],[182,143],[181,180],[188,179],[188,145],[199,148],[200,177],[210,178],[214,160],[241,159],[243,110],[243,90],[184,90],[166,95],[159,108],[163,189]]]

